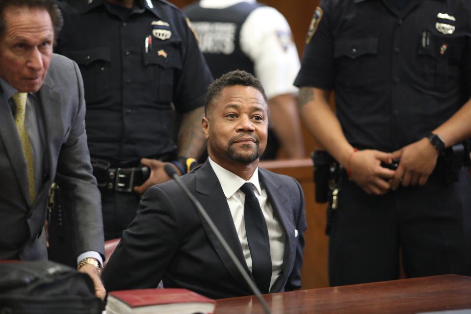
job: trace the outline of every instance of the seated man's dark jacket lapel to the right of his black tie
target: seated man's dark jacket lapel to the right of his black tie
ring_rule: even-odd
[[[293,246],[294,237],[294,223],[292,211],[288,207],[288,199],[283,192],[283,186],[276,180],[269,180],[266,170],[259,168],[259,180],[265,188],[270,200],[273,211],[278,218],[281,226],[285,231],[285,252],[283,256],[283,270],[270,289],[270,292],[279,292],[285,285],[286,279],[289,276],[291,265],[294,262],[295,247]]]

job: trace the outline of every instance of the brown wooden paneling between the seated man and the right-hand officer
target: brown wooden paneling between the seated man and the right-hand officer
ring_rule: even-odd
[[[326,204],[314,199],[312,159],[263,161],[260,166],[273,172],[295,178],[302,186],[305,197],[308,229],[305,234],[304,264],[301,272],[302,289],[328,287],[328,237],[324,234]]]

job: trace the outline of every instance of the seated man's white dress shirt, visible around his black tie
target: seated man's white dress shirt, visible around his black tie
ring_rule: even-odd
[[[227,205],[231,210],[231,215],[234,220],[235,230],[239,237],[240,244],[242,246],[242,252],[244,253],[245,262],[250,271],[252,271],[252,258],[250,256],[250,249],[247,242],[247,235],[245,234],[245,223],[244,223],[244,202],[245,194],[239,190],[239,188],[246,182],[254,184],[255,196],[259,200],[260,208],[265,217],[266,227],[268,228],[268,238],[270,239],[270,257],[272,264],[272,273],[270,288],[280,276],[283,267],[283,256],[285,252],[285,231],[283,227],[276,219],[273,208],[268,200],[265,189],[262,189],[259,183],[259,171],[258,168],[255,170],[252,178],[248,181],[238,177],[229,170],[221,167],[216,162],[211,160],[211,165],[214,173],[216,174],[219,183],[221,184],[224,195],[227,199]]]

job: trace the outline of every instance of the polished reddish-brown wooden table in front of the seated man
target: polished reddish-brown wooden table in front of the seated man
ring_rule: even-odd
[[[263,296],[272,314],[419,313],[471,309],[471,277],[441,275]],[[215,314],[263,314],[254,296],[219,299]]]

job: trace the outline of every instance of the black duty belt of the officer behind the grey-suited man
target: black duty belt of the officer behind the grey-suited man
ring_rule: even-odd
[[[117,167],[98,158],[91,158],[93,175],[97,178],[98,188],[101,191],[115,190],[118,192],[133,192],[134,186],[144,183],[150,176],[148,167]]]

